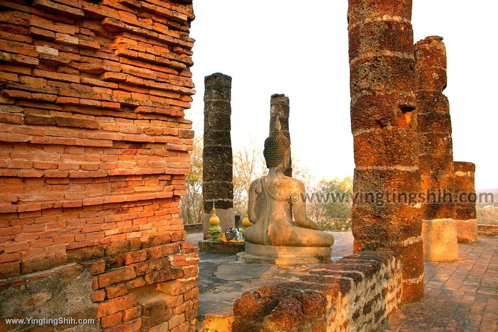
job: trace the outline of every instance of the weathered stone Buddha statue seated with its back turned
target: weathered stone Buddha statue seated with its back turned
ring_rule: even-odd
[[[247,228],[244,234],[246,252],[261,252],[261,249],[252,250],[258,253],[250,252],[253,245],[259,248],[323,247],[328,251],[318,250],[321,253],[316,256],[330,257],[334,236],[322,231],[319,225],[306,217],[306,203],[302,199],[305,197],[304,184],[284,175],[290,163],[290,141],[281,132],[278,118],[275,130],[264,141],[263,156],[268,174],[254,180],[249,187],[249,220],[254,225]],[[314,251],[313,248],[309,249]],[[273,255],[279,255],[279,252],[282,251],[274,250]],[[287,257],[292,256],[288,250],[286,254]],[[303,255],[303,250],[296,253],[296,256],[299,255]]]

